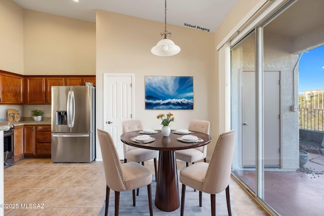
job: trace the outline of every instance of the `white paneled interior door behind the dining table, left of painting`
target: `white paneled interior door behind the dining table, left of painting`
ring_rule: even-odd
[[[133,82],[134,74],[104,74],[104,130],[112,136],[119,159],[124,159],[121,122],[133,117]]]

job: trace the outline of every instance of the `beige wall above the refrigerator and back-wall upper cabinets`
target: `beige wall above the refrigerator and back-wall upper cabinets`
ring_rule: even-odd
[[[25,75],[96,74],[96,24],[24,10]]]

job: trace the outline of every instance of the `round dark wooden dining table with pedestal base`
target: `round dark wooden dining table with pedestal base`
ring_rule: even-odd
[[[196,148],[207,145],[211,142],[208,134],[195,132],[192,134],[202,139],[201,142],[182,142],[177,140],[184,135],[170,133],[169,137],[164,137],[161,131],[156,134],[150,134],[155,138],[150,143],[135,142],[134,137],[141,135],[140,131],[133,131],[122,134],[121,142],[138,148],[158,150],[158,168],[156,178],[155,206],[163,211],[174,211],[180,207],[178,172],[176,163],[176,150]]]

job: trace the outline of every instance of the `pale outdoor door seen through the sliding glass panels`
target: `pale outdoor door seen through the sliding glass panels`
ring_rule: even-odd
[[[280,71],[264,71],[264,164],[280,163]],[[242,166],[255,166],[255,71],[242,72]]]

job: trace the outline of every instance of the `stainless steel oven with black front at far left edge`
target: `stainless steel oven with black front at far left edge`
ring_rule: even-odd
[[[14,131],[4,131],[4,168],[14,164]]]

